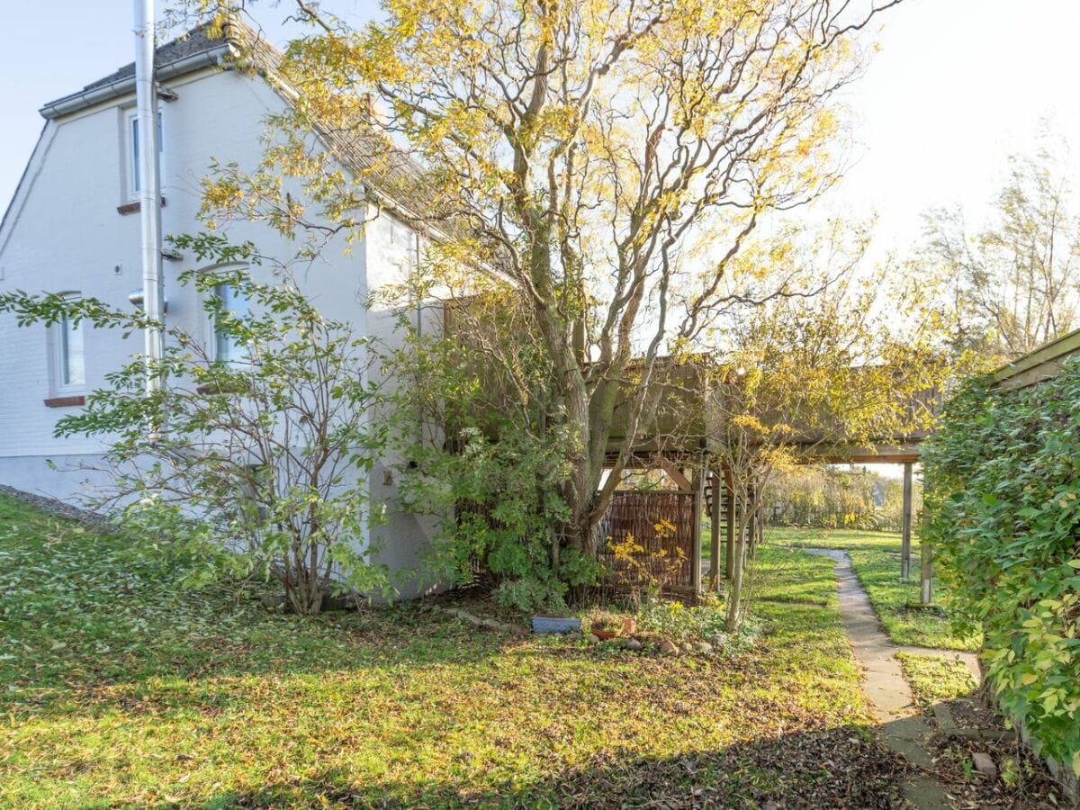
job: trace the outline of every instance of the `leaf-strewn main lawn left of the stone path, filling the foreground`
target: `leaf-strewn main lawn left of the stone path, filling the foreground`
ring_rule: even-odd
[[[667,659],[270,613],[0,497],[0,806],[889,806],[831,563],[760,563],[759,644]]]

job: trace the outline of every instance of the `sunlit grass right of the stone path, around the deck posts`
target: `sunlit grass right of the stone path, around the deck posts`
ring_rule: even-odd
[[[919,602],[919,545],[913,539],[912,578],[900,578],[900,535],[855,529],[818,529],[769,527],[765,531],[767,545],[786,548],[842,549],[851,556],[851,565],[863,583],[881,619],[881,624],[896,644],[917,647],[940,647],[955,650],[976,650],[976,638],[964,638],[953,632],[948,617],[939,610],[908,608]],[[942,597],[935,582],[935,595]]]

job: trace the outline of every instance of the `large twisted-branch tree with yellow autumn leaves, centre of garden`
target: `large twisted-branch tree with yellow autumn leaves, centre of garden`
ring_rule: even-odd
[[[262,168],[225,171],[208,205],[360,229],[372,180],[444,258],[507,280],[544,355],[532,424],[559,437],[561,542],[592,552],[620,478],[605,468],[629,462],[657,406],[658,359],[745,294],[726,275],[770,212],[837,178],[833,99],[861,67],[860,31],[897,2],[386,0],[355,29],[295,0],[308,32],[276,70],[299,93]],[[365,154],[359,174],[338,170],[346,146]]]

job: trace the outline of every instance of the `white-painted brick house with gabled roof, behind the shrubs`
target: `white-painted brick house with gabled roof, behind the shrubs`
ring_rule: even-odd
[[[241,39],[245,48],[238,48]],[[271,81],[266,70],[233,69],[241,52],[252,53],[247,46],[253,41],[258,58],[272,60],[272,49],[240,27],[219,39],[197,29],[157,51],[165,234],[201,230],[200,178],[212,161],[254,168],[262,154],[267,116],[288,104],[288,89]],[[127,65],[41,108],[44,129],[0,224],[0,289],[92,296],[130,306],[129,295],[141,286],[134,86],[134,65]],[[346,168],[349,157],[341,161]],[[378,215],[362,243],[353,244],[348,255],[340,245],[324,251],[322,261],[308,270],[306,284],[327,316],[389,339],[391,313],[368,311],[363,301],[380,285],[402,280],[424,238],[379,210],[374,201],[388,202],[383,189],[370,190],[370,213]],[[401,207],[407,211],[407,205]],[[266,226],[233,224],[228,232],[235,241],[255,241],[264,254],[276,252],[285,259],[295,252],[295,245]],[[175,284],[192,260],[166,252],[166,318],[202,329],[210,345],[213,325],[197,294]],[[114,332],[66,324],[19,327],[12,315],[0,314],[0,484],[76,499],[86,478],[77,468],[99,455],[102,446],[89,438],[58,440],[53,428],[83,404],[108,372],[143,351],[141,338],[125,340]],[[411,566],[432,524],[394,508],[387,467],[377,465],[368,484],[373,498],[388,510],[389,521],[378,529],[387,532],[383,558],[391,566]]]

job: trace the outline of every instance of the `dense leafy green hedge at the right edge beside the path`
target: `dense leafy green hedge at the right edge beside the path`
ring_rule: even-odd
[[[1080,775],[1080,359],[964,387],[928,442],[927,539],[1002,707]]]

